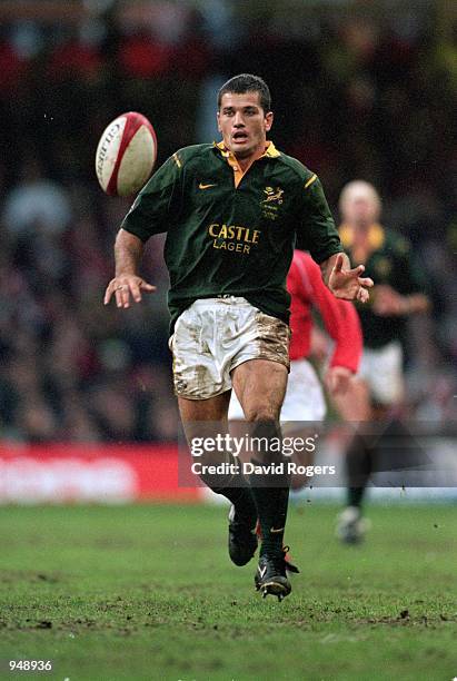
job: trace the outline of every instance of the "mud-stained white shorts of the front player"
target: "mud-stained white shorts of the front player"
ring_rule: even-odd
[[[208,399],[231,388],[230,372],[249,359],[270,359],[289,368],[290,329],[246,298],[201,298],[176,320],[169,340],[175,393]]]

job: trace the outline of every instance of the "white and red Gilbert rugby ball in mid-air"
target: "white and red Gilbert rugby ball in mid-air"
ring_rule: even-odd
[[[115,118],[97,146],[96,171],[110,196],[136,194],[149,179],[157,159],[157,137],[149,120],[129,111]]]

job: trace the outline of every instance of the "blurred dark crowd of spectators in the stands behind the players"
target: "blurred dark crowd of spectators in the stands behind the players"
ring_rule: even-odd
[[[152,121],[159,162],[181,146],[212,141],[216,90],[244,71],[270,85],[271,137],[319,174],[336,217],[341,187],[364,178],[383,195],[383,221],[413,240],[434,310],[410,325],[411,409],[450,418],[456,50],[439,34],[434,4],[377,17],[262,13],[249,2],[242,17],[222,0],[199,9],[93,4],[103,11],[69,23],[0,23],[1,436],[176,436],[163,237],[148,244],[143,267],[158,293],[128,312],[103,307],[129,201],[99,189],[95,149],[126,110]]]

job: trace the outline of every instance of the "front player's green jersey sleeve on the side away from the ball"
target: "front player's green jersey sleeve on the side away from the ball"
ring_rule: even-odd
[[[301,187],[302,214],[297,226],[297,248],[309,250],[312,259],[320,264],[344,248],[319,178],[306,186],[308,182]]]

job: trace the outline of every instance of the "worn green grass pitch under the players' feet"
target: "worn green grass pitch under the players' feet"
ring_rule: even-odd
[[[451,681],[456,509],[374,506],[360,547],[336,511],[291,510],[301,574],[278,603],[229,562],[223,507],[0,509],[0,678]]]

